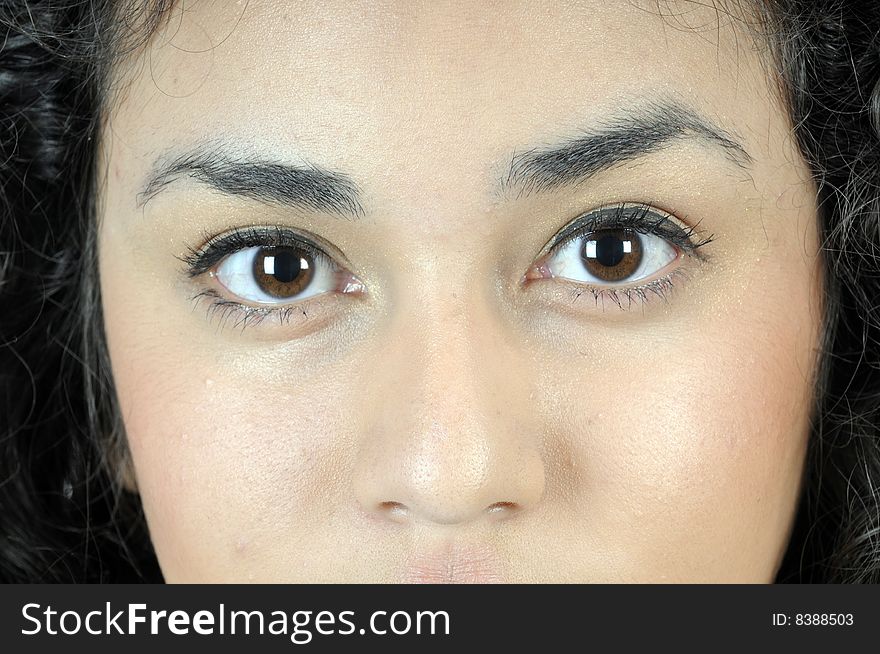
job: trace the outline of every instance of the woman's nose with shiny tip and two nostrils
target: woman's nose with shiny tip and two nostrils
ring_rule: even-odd
[[[439,525],[503,520],[543,496],[521,349],[488,309],[455,304],[397,319],[372,367],[354,489],[373,516]]]

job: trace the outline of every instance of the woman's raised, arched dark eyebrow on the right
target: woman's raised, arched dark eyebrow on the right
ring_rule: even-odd
[[[500,187],[520,195],[556,190],[599,172],[692,139],[748,170],[754,159],[737,136],[677,102],[649,103],[606,121],[598,130],[559,145],[514,153]]]

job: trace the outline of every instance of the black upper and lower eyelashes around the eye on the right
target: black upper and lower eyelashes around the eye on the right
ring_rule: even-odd
[[[640,234],[659,236],[685,255],[696,257],[703,262],[708,261],[708,256],[700,248],[713,242],[715,237],[711,234],[702,236],[699,231],[699,223],[684,227],[674,221],[671,215],[664,215],[664,213],[649,205],[627,203],[591,209],[575,218],[554,236],[539,260],[550,257],[572,241],[593,232],[604,229],[630,229]],[[626,311],[631,309],[634,304],[646,304],[652,296],[668,301],[669,293],[675,287],[676,280],[686,277],[687,273],[684,270],[676,269],[658,279],[622,288],[589,286],[572,282],[577,284],[577,288],[572,290],[571,298],[572,302],[577,302],[583,297],[592,297],[596,306],[601,304],[603,310],[605,301],[609,300],[617,308]]]

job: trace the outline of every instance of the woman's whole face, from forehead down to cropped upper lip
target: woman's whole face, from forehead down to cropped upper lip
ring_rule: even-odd
[[[772,580],[822,280],[742,25],[246,5],[174,13],[105,131],[104,315],[166,579]]]

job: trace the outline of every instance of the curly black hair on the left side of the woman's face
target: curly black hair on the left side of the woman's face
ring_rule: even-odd
[[[110,65],[164,2],[0,3],[0,579],[160,581],[124,439],[95,247]]]

